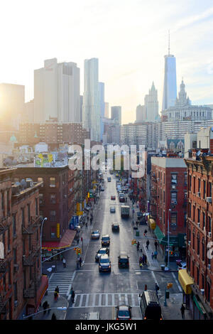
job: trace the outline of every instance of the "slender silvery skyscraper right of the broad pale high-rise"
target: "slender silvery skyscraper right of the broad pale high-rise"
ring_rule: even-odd
[[[84,60],[84,95],[82,106],[84,129],[90,130],[90,139],[100,140],[99,60]]]

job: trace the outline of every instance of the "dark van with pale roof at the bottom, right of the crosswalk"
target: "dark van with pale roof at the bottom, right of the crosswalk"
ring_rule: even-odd
[[[143,291],[139,295],[141,297],[140,308],[143,320],[162,320],[161,307],[158,296],[155,291]]]

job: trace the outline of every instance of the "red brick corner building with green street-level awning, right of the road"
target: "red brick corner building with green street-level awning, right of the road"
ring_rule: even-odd
[[[168,220],[170,230],[170,261],[185,257],[187,218],[187,168],[175,154],[151,157],[151,216],[155,220],[155,236],[163,248],[165,262],[168,252]],[[169,215],[169,216],[168,216]]]

